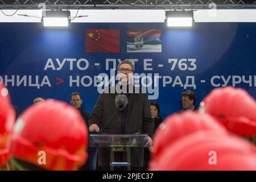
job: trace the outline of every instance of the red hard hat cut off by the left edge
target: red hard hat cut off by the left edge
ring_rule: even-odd
[[[15,112],[10,103],[8,90],[0,84],[0,167],[5,166],[9,160],[9,150],[6,143],[10,138],[15,122]]]

